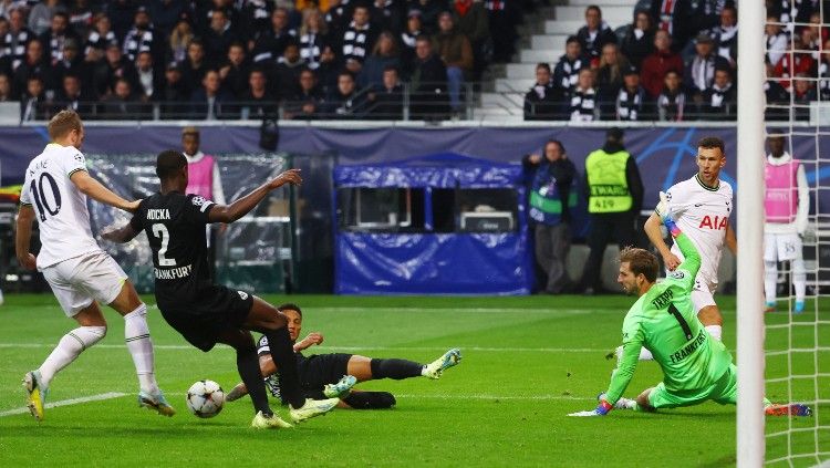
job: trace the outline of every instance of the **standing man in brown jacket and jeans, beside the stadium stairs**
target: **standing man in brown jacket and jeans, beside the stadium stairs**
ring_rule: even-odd
[[[457,113],[461,110],[461,85],[473,72],[473,48],[469,39],[456,31],[452,13],[445,11],[438,17],[438,28],[435,50],[447,67],[449,105]]]

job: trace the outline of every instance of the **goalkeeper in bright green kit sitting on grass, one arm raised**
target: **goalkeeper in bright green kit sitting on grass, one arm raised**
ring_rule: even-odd
[[[593,410],[569,416],[604,416],[611,409],[654,412],[660,408],[699,405],[713,401],[736,404],[737,373],[732,354],[723,343],[712,339],[697,320],[689,293],[701,268],[701,254],[694,243],[665,215],[664,194],[655,214],[674,237],[685,261],[668,277],[656,283],[657,258],[643,249],[626,248],[620,252],[618,282],[626,293],[640,297],[623,321],[623,354],[611,376],[611,384],[599,396]],[[640,349],[654,354],[663,370],[663,382],[640,394],[636,399],[622,394],[636,368]],[[807,405],[774,405],[765,398],[768,415],[810,416]]]

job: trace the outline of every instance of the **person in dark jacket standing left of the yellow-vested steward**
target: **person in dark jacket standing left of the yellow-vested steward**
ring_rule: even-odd
[[[543,292],[561,294],[574,288],[564,261],[571,249],[571,209],[577,205],[577,167],[557,139],[544,144],[544,155],[532,154],[521,165],[530,180],[529,215],[535,221],[536,262],[544,271]]]

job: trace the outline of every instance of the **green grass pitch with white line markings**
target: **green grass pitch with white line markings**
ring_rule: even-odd
[[[464,360],[439,381],[376,381],[360,388],[397,397],[391,410],[335,410],[293,429],[249,428],[250,401],[229,403],[212,419],[191,416],[184,394],[210,378],[228,391],[237,383],[234,353],[188,347],[151,306],[156,373],[179,412],[157,416],[136,404],[137,382],[123,345],[123,322],[113,311],[106,339],[58,375],[50,402],[104,395],[105,399],[46,410],[41,424],[23,407],[23,374],[37,367],[73,327],[49,294],[8,294],[0,306],[0,466],[568,466],[722,467],[735,464],[735,408],[706,404],[656,415],[613,412],[604,418],[570,418],[595,406],[613,363],[604,354],[620,340],[633,298],[344,298],[269,297],[298,302],[303,335],[324,334],[309,352],[349,352],[428,362],[458,346]],[[149,304],[153,298],[146,298]],[[720,297],[725,341],[735,346],[735,300]],[[808,303],[808,310],[812,302]],[[823,319],[828,311],[822,311]],[[768,323],[786,323],[779,313]],[[768,350],[830,349],[830,325],[815,311],[802,325],[770,330]],[[827,352],[770,356],[767,376],[808,377],[768,385],[774,401],[791,392],[815,405],[827,399]],[[626,395],[658,382],[654,363],[642,363]],[[110,395],[107,395],[110,394]],[[112,397],[113,394],[124,396]],[[830,450],[830,407],[813,418],[767,418],[767,433],[796,429],[767,440],[767,457]],[[286,409],[279,412],[286,416]],[[824,455],[821,458],[828,458]],[[796,466],[816,464],[795,458]],[[787,466],[786,462],[772,466]]]

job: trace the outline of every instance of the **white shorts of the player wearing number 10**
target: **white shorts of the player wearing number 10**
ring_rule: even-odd
[[[127,275],[106,252],[90,252],[43,269],[66,316],[97,301],[108,304],[118,297]]]

